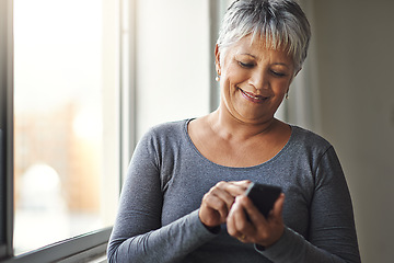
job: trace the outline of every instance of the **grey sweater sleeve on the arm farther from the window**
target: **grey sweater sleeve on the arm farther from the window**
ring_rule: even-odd
[[[333,147],[316,170],[309,240],[287,228],[276,244],[259,252],[276,263],[360,262],[351,199]]]

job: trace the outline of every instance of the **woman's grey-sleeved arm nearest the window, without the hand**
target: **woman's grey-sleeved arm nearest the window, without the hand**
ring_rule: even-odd
[[[136,148],[123,186],[118,215],[108,243],[108,262],[177,262],[216,237],[195,210],[161,226],[163,195],[153,139]]]

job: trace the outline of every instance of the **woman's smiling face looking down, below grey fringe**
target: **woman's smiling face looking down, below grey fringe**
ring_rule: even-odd
[[[242,123],[271,121],[294,77],[292,58],[285,50],[267,48],[259,37],[251,44],[251,36],[220,56],[217,48],[222,110]]]

